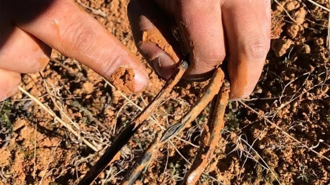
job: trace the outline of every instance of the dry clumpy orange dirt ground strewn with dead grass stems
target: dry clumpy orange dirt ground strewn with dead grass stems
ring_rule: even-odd
[[[315,2],[330,8],[326,0]],[[127,0],[82,3],[105,12],[107,16],[103,17],[86,10],[138,55],[126,16]],[[330,157],[329,13],[307,1],[279,3],[293,20],[273,2],[272,46],[260,81],[245,103],[300,142]],[[38,73],[28,74],[22,76],[21,86],[70,124],[80,137],[18,92],[0,104],[0,184],[76,184],[140,111],[134,104],[145,107],[164,84],[148,68],[149,86],[141,94],[126,94],[131,100],[128,102],[79,62],[56,51],[52,57],[70,71],[50,62],[42,72],[47,82]],[[159,124],[168,127],[179,120],[205,84],[179,82],[171,97],[154,113]],[[199,145],[208,110],[205,108],[191,128],[181,134],[183,139]],[[159,130],[152,121],[141,127],[95,183],[118,184]],[[82,137],[100,152],[87,147]],[[197,148],[176,139],[173,142],[182,156],[192,162]],[[179,183],[190,167],[182,156],[171,145],[164,146],[136,184]],[[281,184],[330,183],[327,160],[290,140],[238,102],[229,103],[222,139],[205,172],[224,184],[279,184],[275,177]],[[198,184],[218,182],[204,175]]]

